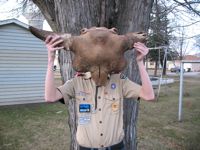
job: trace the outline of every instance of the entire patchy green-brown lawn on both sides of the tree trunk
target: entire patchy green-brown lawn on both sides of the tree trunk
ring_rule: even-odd
[[[177,80],[177,79],[176,79]],[[161,87],[157,102],[141,100],[138,150],[200,149],[200,78],[185,78],[183,121],[177,121],[179,84]],[[65,105],[0,107],[0,150],[68,150]]]

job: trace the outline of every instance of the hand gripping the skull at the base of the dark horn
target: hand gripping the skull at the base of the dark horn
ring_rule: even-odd
[[[48,49],[48,60],[49,62],[53,62],[55,59],[55,52],[56,50],[63,49],[64,46],[60,46],[63,43],[63,39],[59,35],[49,35],[46,40],[45,44]]]

